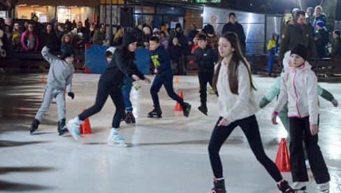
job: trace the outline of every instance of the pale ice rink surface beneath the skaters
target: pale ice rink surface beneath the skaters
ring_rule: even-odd
[[[121,124],[120,135],[129,147],[106,145],[115,106],[111,99],[89,118],[93,134],[75,141],[57,134],[57,105],[53,101],[38,131],[29,134],[45,84],[42,74],[0,74],[0,191],[3,192],[208,192],[212,169],[208,141],[218,118],[217,96],[208,94],[208,116],[199,106],[197,76],[179,76],[175,92],[184,93],[192,106],[188,118],[174,110],[175,101],[164,88],[159,96],[163,117],[147,118],[152,110],[150,85],[132,90],[136,124]],[[45,75],[46,77],[46,75]],[[153,78],[152,76],[148,76]],[[92,106],[99,75],[73,77],[75,99],[66,96],[66,119]],[[254,76],[259,101],[274,78]],[[340,83],[320,83],[341,102]],[[320,99],[319,145],[331,174],[331,192],[341,192],[340,107]],[[256,113],[267,155],[275,161],[280,139],[287,138],[282,124],[270,123],[275,101]],[[289,139],[287,138],[289,145]],[[228,192],[279,192],[275,182],[256,161],[240,129],[235,129],[220,152]],[[308,169],[307,192],[318,192]],[[291,174],[282,173],[289,183]]]

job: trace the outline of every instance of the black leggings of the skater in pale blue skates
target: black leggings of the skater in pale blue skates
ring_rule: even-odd
[[[101,109],[103,108],[104,103],[106,103],[106,100],[108,99],[109,95],[116,107],[116,112],[113,117],[111,127],[119,128],[119,123],[121,122],[125,110],[122,90],[121,88],[114,88],[113,85],[108,86],[101,82],[99,82],[99,87],[97,90],[96,101],[94,103],[94,106],[88,108],[83,113],[80,113],[80,115],[78,115],[80,120],[85,120],[87,117],[99,113],[99,111],[101,111]]]

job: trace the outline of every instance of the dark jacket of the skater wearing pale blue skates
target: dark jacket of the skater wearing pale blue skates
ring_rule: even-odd
[[[143,73],[138,71],[133,59],[127,59],[124,50],[115,50],[113,60],[108,64],[106,70],[101,74],[99,83],[108,87],[122,87],[123,78],[131,77],[135,74],[141,80],[145,79]]]

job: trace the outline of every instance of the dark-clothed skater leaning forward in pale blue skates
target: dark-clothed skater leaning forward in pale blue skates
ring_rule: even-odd
[[[112,57],[113,59],[99,78],[99,86],[94,106],[87,108],[83,113],[80,113],[80,115],[68,121],[68,130],[76,140],[80,137],[80,124],[82,124],[87,117],[99,113],[110,95],[116,106],[116,112],[108,136],[108,145],[126,146],[124,138],[118,136],[119,123],[121,122],[125,108],[121,90],[123,78],[131,77],[134,80],[142,79],[147,83],[150,83],[150,80],[145,78],[143,73],[140,71],[133,71],[133,69],[129,68],[129,66],[135,65],[133,64],[133,60],[135,59],[136,41],[136,37],[133,34],[129,31],[124,32],[122,46],[115,50]],[[108,61],[110,61],[110,59],[108,59]]]

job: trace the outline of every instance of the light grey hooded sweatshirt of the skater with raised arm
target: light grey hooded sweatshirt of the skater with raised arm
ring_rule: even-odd
[[[50,70],[48,72],[48,85],[55,87],[57,90],[64,90],[71,92],[72,76],[75,72],[73,64],[66,62],[60,57],[56,57],[48,52],[48,47],[41,50],[41,55],[50,63]]]

